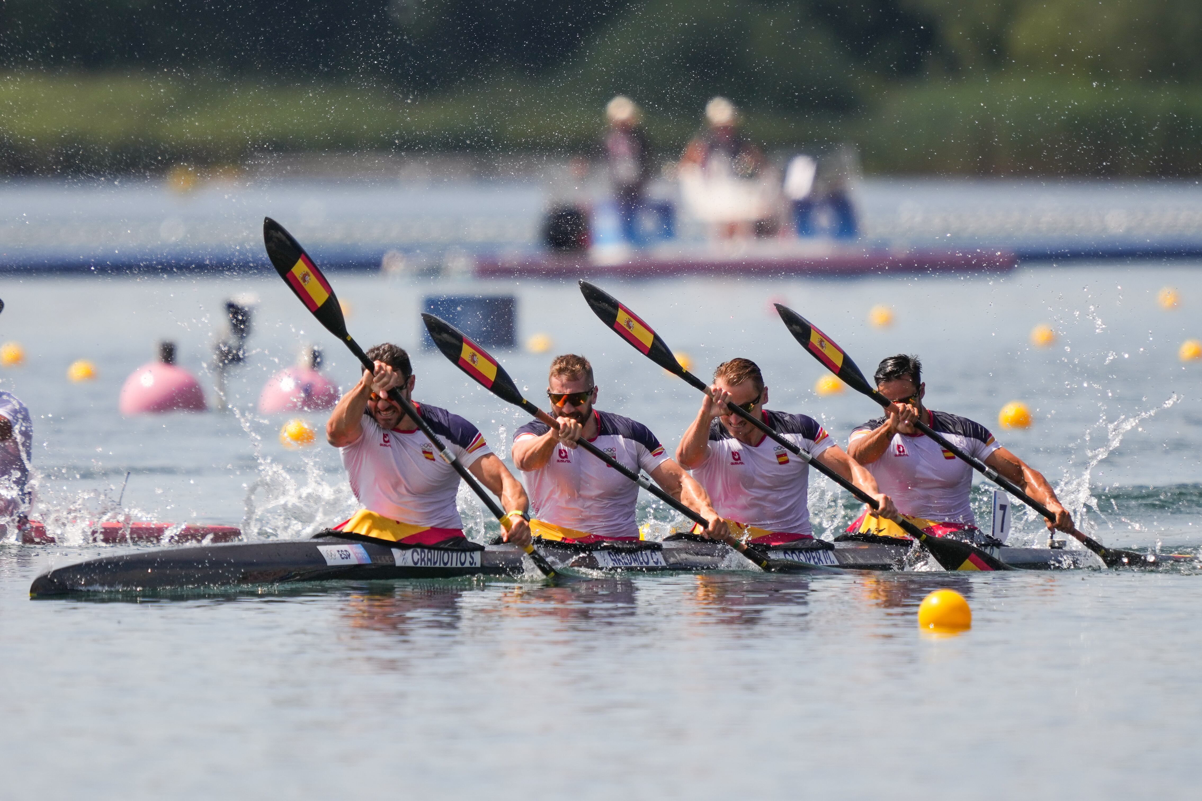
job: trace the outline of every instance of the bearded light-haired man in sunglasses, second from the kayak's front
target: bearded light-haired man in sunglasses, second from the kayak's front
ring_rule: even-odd
[[[581,545],[638,539],[638,485],[578,449],[581,437],[630,470],[644,471],[665,491],[709,520],[706,536],[727,537],[726,525],[706,490],[672,461],[645,425],[593,407],[597,387],[588,359],[576,354],[555,357],[547,383],[559,430],[534,420],[513,437],[513,464],[524,473],[534,502],[530,528],[535,537]]]

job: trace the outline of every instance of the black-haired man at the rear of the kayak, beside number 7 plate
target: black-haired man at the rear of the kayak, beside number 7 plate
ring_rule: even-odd
[[[1072,530],[1072,518],[1060,506],[1042,473],[998,444],[980,423],[923,406],[927,384],[922,382],[922,363],[917,357],[891,355],[881,361],[873,377],[876,388],[893,404],[885,417],[869,420],[851,432],[847,453],[873,473],[881,489],[897,501],[902,514],[915,525],[936,536],[954,534],[988,544],[969,503],[972,467],[915,428],[915,422],[922,419],[948,442],[993,467],[1051,509],[1055,521],[1048,522],[1048,528]],[[906,537],[897,526],[870,515],[852,524],[849,532],[865,538]]]

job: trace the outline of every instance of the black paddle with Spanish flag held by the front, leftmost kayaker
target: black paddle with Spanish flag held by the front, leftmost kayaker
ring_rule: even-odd
[[[313,263],[309,255],[304,252],[300,244],[292,238],[284,226],[275,222],[270,217],[263,217],[263,244],[267,246],[267,256],[272,259],[272,265],[275,267],[275,271],[280,274],[285,283],[292,289],[300,303],[305,305],[317,322],[321,323],[327,331],[343,340],[343,343],[355,354],[355,358],[359,360],[363,369],[368,372],[375,371],[375,364],[367,357],[363,348],[359,347],[358,342],[355,341],[350,334],[346,333],[346,321],[343,317],[343,307],[338,303],[338,298],[334,295],[334,289],[331,288],[329,282],[326,276],[321,274],[317,265]],[[405,411],[405,414],[410,417],[417,428],[422,430],[434,447],[438,448],[439,455],[442,460],[454,468],[454,472],[459,473],[459,477],[471,488],[471,491],[483,501],[488,510],[501,522],[502,526],[508,528],[508,519],[505,515],[505,510],[501,509],[493,501],[493,496],[480,485],[476,477],[463,466],[463,462],[442,444],[442,441],[434,434],[433,429],[421,418],[413,405],[405,400],[405,396],[400,394],[400,390],[393,387],[388,390],[388,397],[393,400],[400,408]],[[525,552],[530,555],[534,560],[535,566],[542,572],[548,579],[554,579],[558,576],[555,568],[551,566],[542,554],[534,549],[534,545],[529,545]]]

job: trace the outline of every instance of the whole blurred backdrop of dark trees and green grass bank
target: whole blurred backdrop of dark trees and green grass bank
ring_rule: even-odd
[[[667,149],[724,94],[879,171],[1196,173],[1200,34],[1197,0],[6,0],[0,162],[571,150],[621,92]]]

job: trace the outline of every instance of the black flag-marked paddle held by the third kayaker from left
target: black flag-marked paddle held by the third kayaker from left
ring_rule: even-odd
[[[584,300],[589,304],[593,312],[601,318],[601,322],[618,331],[618,334],[632,345],[636,351],[668,372],[680,376],[692,387],[709,394],[709,387],[707,387],[701,378],[692,375],[680,365],[677,358],[672,354],[672,348],[667,346],[667,342],[665,342],[659,334],[651,330],[651,327],[644,323],[637,315],[635,315],[635,312],[618,303],[617,298],[589,283],[588,281],[581,281],[581,292],[584,293]],[[773,431],[767,424],[764,424],[763,420],[752,417],[749,412],[739,408],[738,406],[730,406],[730,410],[755,428],[763,431],[764,435],[783,446],[786,450],[796,455],[807,465],[810,465],[814,470],[819,471],[832,482],[851,492],[856,500],[867,503],[873,509],[877,508],[875,498],[845,479],[839,473],[810,456],[789,440]],[[900,520],[898,521],[898,525],[902,526],[908,534],[926,545],[927,550],[930,551],[930,555],[935,557],[935,561],[939,562],[939,564],[946,570],[1013,569],[1011,566],[1001,562],[987,551],[970,545],[969,543],[964,543],[958,539],[932,537],[922,528],[911,524],[909,520]]]

